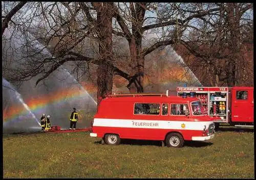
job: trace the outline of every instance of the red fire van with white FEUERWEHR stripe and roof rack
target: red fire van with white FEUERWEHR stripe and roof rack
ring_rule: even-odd
[[[118,145],[120,139],[159,140],[182,147],[184,140],[214,138],[214,118],[196,97],[166,94],[115,94],[102,99],[92,123],[91,137]]]

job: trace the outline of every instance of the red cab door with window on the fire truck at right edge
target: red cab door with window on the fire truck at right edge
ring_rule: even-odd
[[[253,123],[253,87],[233,87],[231,93],[231,121]]]

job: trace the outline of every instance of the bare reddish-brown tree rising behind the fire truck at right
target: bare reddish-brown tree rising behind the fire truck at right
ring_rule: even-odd
[[[243,36],[248,34],[245,29],[251,27],[252,6],[244,3],[215,6],[219,6],[220,11],[201,18],[197,27],[191,26],[193,31],[187,40],[181,41],[197,57],[187,59],[186,63],[198,71],[196,74],[206,86],[239,85],[241,83],[238,82],[245,75],[243,73],[246,73],[243,69],[250,69],[249,66],[245,68],[248,60],[244,60]]]

